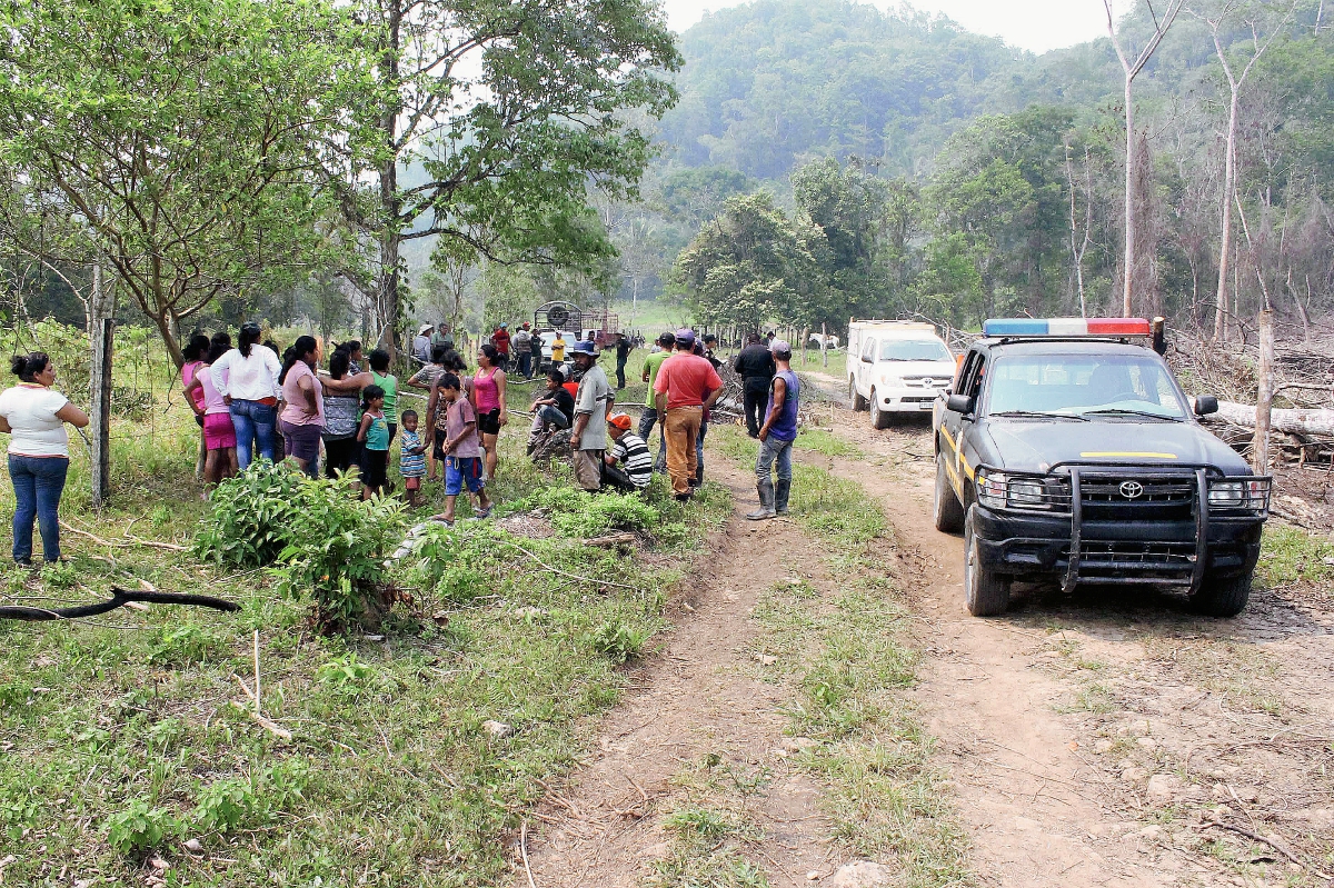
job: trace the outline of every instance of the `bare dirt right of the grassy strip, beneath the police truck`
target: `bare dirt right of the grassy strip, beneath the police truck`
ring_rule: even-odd
[[[880,497],[918,571],[928,656],[916,697],[983,883],[1323,881],[1334,616],[1266,589],[1235,620],[1154,592],[1081,589],[1034,591],[1003,619],[974,619],[962,540],[931,524],[928,425],[839,420],[867,456],[808,459]]]

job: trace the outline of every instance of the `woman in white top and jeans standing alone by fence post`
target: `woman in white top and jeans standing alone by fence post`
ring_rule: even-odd
[[[60,560],[60,495],[69,472],[69,435],[88,415],[51,388],[56,368],[44,352],[17,355],[11,364],[19,384],[0,392],[0,432],[9,437],[13,481],[13,560],[32,564],[32,523],[41,528],[41,557]]]

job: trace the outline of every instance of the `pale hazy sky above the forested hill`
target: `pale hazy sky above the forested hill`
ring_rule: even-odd
[[[882,9],[898,8],[896,0],[871,0]],[[674,31],[684,31],[706,11],[742,5],[739,0],[664,0]],[[1093,40],[1107,33],[1107,13],[1102,0],[914,0],[923,12],[943,12],[975,33],[1046,52]],[[1127,0],[1114,4],[1119,16]]]

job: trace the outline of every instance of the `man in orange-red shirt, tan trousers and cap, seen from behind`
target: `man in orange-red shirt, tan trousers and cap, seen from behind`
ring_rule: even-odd
[[[676,352],[658,371],[654,381],[658,415],[667,436],[667,473],[672,492],[682,503],[690,499],[699,463],[695,444],[704,411],[723,392],[723,380],[706,359],[694,353],[695,332],[676,331]]]

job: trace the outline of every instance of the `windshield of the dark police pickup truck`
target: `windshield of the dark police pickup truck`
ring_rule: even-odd
[[[988,397],[991,415],[1186,416],[1157,355],[1005,355],[991,368]]]

